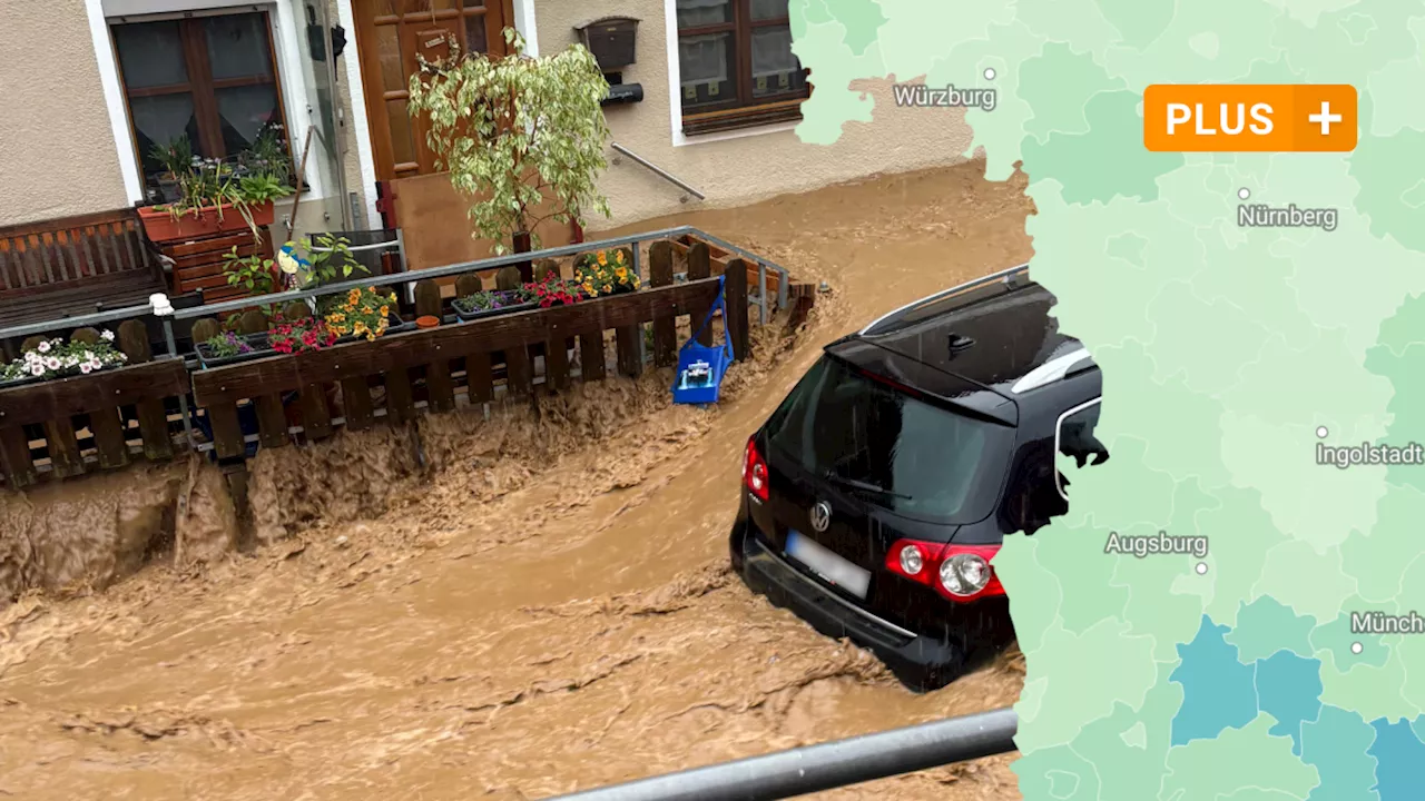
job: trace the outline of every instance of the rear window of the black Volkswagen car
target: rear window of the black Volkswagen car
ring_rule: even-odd
[[[765,430],[772,449],[814,476],[872,485],[885,492],[852,495],[943,523],[995,509],[1015,443],[1009,426],[919,400],[832,356],[812,366]]]

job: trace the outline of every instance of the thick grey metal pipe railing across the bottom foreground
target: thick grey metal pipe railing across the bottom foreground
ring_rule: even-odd
[[[598,790],[563,801],[772,801],[1015,750],[1019,717],[1000,708],[792,748]]]

